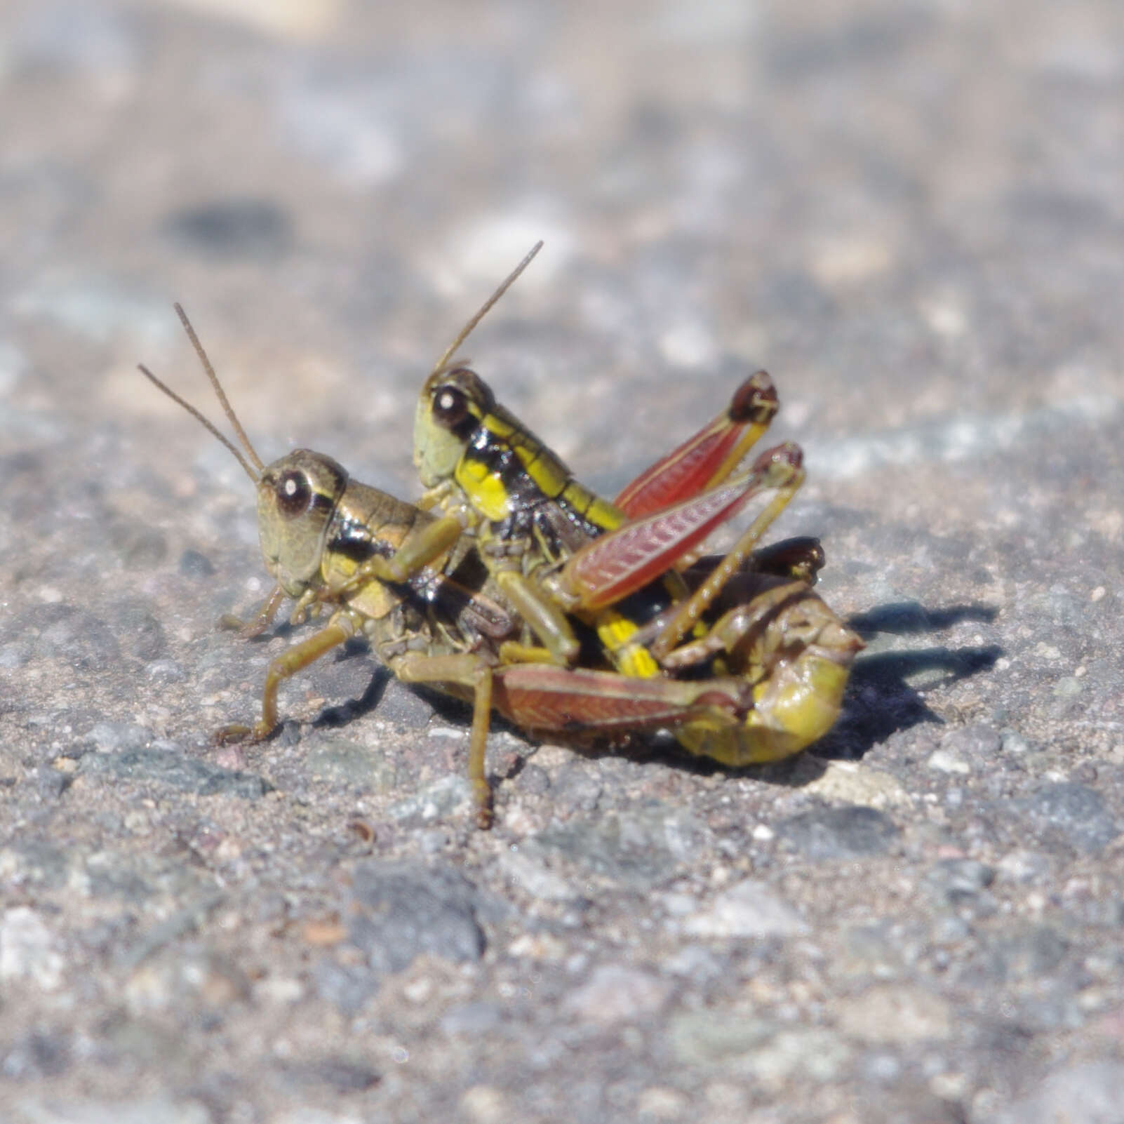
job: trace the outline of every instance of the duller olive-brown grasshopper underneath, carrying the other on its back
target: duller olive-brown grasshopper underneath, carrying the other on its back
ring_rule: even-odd
[[[410,551],[417,537],[428,541],[439,520],[350,479],[323,453],[298,448],[265,464],[190,321],[179,305],[175,309],[242,447],[147,368],[139,370],[221,442],[253,481],[262,558],[275,582],[253,620],[233,623],[241,625],[243,637],[260,635],[287,598],[296,601],[293,624],[330,609],[323,627],[270,663],[257,722],[224,726],[216,740],[269,737],[278,726],[280,685],[353,636],[364,636],[402,681],[427,683],[472,703],[468,769],[477,822],[487,827],[491,790],[484,753],[492,708],[533,735],[575,738],[681,725],[724,728],[754,708],[753,690],[740,677],[638,680],[604,664],[559,668],[506,659],[504,645],[515,643],[526,627],[468,536],[432,553],[427,564],[401,581],[372,577],[373,560]]]

